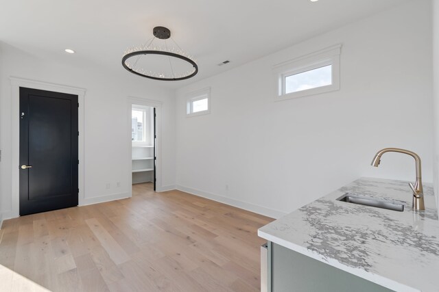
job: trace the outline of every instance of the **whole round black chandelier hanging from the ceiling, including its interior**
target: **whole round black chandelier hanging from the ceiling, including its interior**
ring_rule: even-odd
[[[152,30],[153,38],[147,40],[141,47],[132,47],[127,49],[122,57],[122,66],[129,72],[141,77],[163,81],[178,81],[194,77],[198,73],[198,65],[193,58],[182,51],[175,40],[171,38],[171,31],[166,27],[154,27]],[[168,46],[168,39],[174,42],[176,47]],[[163,40],[162,44],[154,43],[157,39]],[[170,44],[169,44],[170,45]],[[168,68],[150,68],[152,64],[148,64],[146,55],[165,56],[166,60],[161,60],[161,66]],[[143,59],[141,59],[143,57]],[[174,60],[174,62],[172,62]],[[157,62],[158,60],[156,60]],[[167,64],[163,64],[166,62]]]

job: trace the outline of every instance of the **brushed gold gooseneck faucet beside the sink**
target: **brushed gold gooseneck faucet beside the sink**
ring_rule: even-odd
[[[375,154],[375,157],[372,160],[371,165],[375,166],[375,168],[378,167],[380,161],[381,161],[381,155],[383,155],[385,152],[399,152],[404,153],[407,155],[410,155],[414,158],[416,161],[416,183],[414,185],[412,183],[409,183],[410,189],[413,191],[413,209],[414,210],[425,210],[424,206],[424,193],[423,193],[423,181],[420,174],[420,157],[415,152],[412,152],[410,150],[400,149],[400,148],[384,148],[382,150],[379,150],[377,154]]]

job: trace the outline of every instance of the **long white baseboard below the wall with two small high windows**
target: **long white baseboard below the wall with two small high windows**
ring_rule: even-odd
[[[200,191],[199,189],[192,189],[191,187],[185,187],[182,185],[176,185],[176,189],[179,191],[185,191],[186,193],[193,194],[195,196],[200,196],[209,200],[214,200],[217,202],[221,202],[224,204],[228,204],[233,207],[237,207],[239,209],[244,209],[253,213],[261,214],[264,216],[272,217],[272,218],[280,218],[284,215],[287,215],[287,213],[283,211],[278,211],[274,209],[270,209],[267,207],[262,207],[257,204],[252,204],[249,202],[243,202],[240,200],[235,200],[233,198],[227,198],[224,196],[218,196],[215,194],[208,193],[206,191]]]

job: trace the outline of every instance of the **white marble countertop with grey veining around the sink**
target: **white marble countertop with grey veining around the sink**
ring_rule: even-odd
[[[258,235],[394,291],[439,291],[439,222],[431,184],[412,210],[406,181],[359,178],[259,228]],[[337,201],[351,193],[399,201],[403,212]]]

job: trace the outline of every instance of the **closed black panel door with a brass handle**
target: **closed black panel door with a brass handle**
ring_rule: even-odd
[[[20,88],[20,215],[78,205],[78,96]]]

